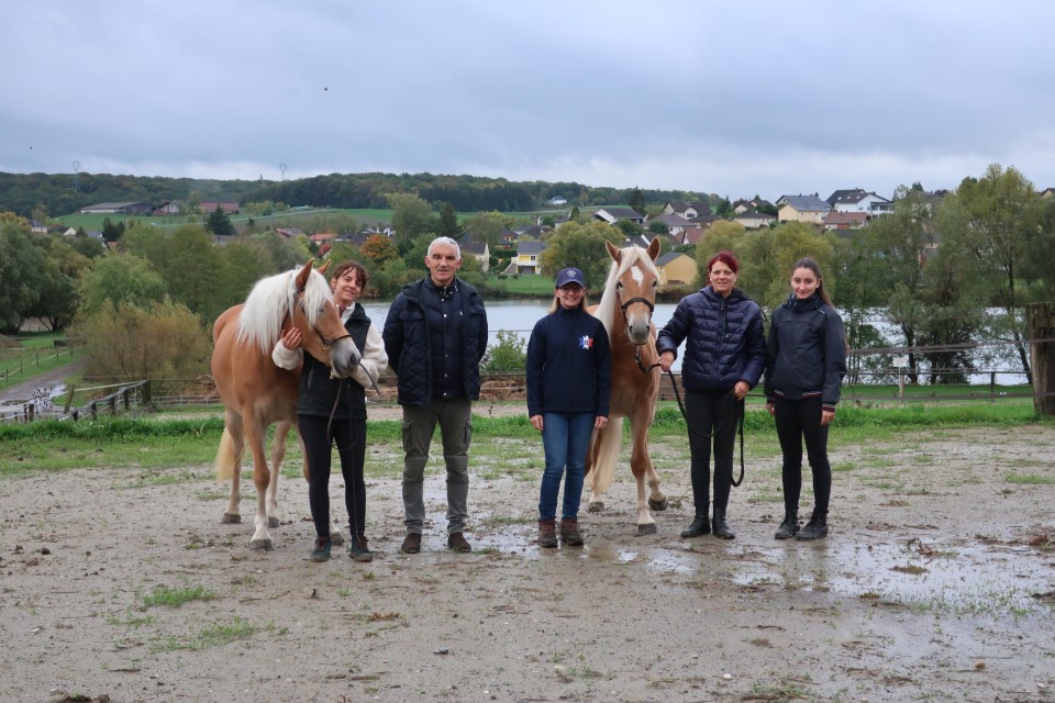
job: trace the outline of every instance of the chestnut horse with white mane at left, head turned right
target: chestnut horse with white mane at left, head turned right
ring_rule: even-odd
[[[297,327],[303,336],[304,352],[330,366],[334,376],[351,376],[359,362],[359,350],[345,331],[322,276],[325,268],[312,270],[312,261],[308,261],[301,269],[262,279],[245,303],[226,310],[212,328],[212,378],[225,406],[216,478],[231,478],[223,522],[242,522],[238,465],[248,445],[256,486],[256,531],[249,540],[253,549],[270,549],[267,528],[278,526],[278,470],[286,456],[286,436],[296,420],[300,379],[299,368],[287,371],[271,361],[275,343],[286,330]],[[276,428],[268,469],[264,444],[273,424]],[[334,529],[331,534],[338,533]]]

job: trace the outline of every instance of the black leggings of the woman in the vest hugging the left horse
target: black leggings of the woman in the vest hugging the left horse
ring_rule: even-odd
[[[329,426],[330,432],[326,432]],[[348,509],[352,534],[366,534],[366,483],[363,465],[366,460],[366,421],[334,420],[297,415],[297,429],[304,440],[308,458],[308,504],[315,535],[330,535],[330,462],[331,439],[336,440],[344,476],[344,502]]]

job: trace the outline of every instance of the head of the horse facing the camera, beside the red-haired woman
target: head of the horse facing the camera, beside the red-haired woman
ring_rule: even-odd
[[[620,249],[611,242],[604,245],[612,257],[607,290],[614,286],[615,305],[626,321],[626,336],[637,346],[647,344],[652,338],[652,312],[656,309],[659,284],[659,271],[654,264],[659,255],[659,239],[654,238],[647,249],[636,246]]]

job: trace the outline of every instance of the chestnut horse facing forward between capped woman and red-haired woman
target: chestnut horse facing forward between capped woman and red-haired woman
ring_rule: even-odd
[[[611,341],[612,391],[608,424],[593,433],[586,455],[586,472],[596,469],[587,510],[591,513],[604,510],[602,498],[615,473],[623,438],[623,417],[630,417],[634,442],[630,468],[637,481],[637,534],[651,535],[656,532],[656,522],[648,509],[667,509],[667,499],[659,490],[659,477],[648,455],[648,427],[655,417],[659,394],[656,364],[659,355],[652,324],[659,282],[659,271],[654,263],[659,254],[659,239],[653,239],[647,249],[638,246],[619,249],[611,242],[604,244],[612,257],[612,268],[601,302],[590,308],[590,312],[604,324]]]

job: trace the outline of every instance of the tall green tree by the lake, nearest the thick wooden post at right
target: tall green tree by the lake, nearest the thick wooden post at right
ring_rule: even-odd
[[[991,283],[991,300],[1002,311],[992,321],[995,336],[1012,343],[1030,383],[1025,301],[1018,286],[1041,234],[1041,205],[1033,183],[1022,174],[993,164],[980,179],[965,178],[940,210],[942,246],[975,257],[978,275]]]

